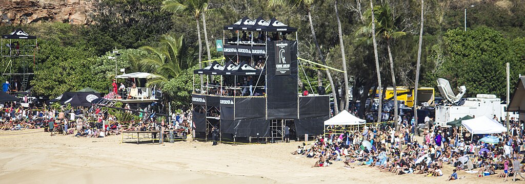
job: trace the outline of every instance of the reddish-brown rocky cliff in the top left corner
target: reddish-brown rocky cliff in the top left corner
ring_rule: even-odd
[[[40,21],[89,25],[99,0],[0,0],[0,26]]]

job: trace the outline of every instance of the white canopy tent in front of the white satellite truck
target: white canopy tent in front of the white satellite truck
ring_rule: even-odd
[[[501,125],[496,120],[481,116],[474,119],[463,120],[461,124],[472,134],[491,134],[501,133],[507,131],[505,126]]]

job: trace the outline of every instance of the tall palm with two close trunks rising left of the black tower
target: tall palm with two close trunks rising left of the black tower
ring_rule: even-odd
[[[199,19],[204,17],[204,12],[209,11],[211,9],[208,9],[208,1],[207,0],[165,0],[162,2],[162,10],[170,11],[171,13],[179,13],[179,14],[185,14],[188,16],[192,16],[195,19],[196,26],[197,26],[197,37],[198,37],[198,65],[199,68],[202,68],[202,39],[201,39],[201,26],[199,26]],[[206,31],[206,25],[204,23],[204,30]],[[207,37],[207,33],[205,32],[204,35]],[[206,39],[206,47],[208,47],[208,41]],[[208,50],[208,59],[211,59],[211,55],[209,54],[209,47]],[[203,76],[201,76],[201,84],[204,83]],[[201,89],[201,91],[203,91]]]

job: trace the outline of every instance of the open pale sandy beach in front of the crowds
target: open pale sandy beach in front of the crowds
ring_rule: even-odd
[[[49,136],[43,130],[0,132],[0,183],[444,183],[444,177],[396,176],[375,168],[311,168],[316,161],[290,153],[299,142],[231,145],[203,142],[120,143]],[[496,176],[449,183],[502,182]],[[520,181],[523,182],[523,181]]]

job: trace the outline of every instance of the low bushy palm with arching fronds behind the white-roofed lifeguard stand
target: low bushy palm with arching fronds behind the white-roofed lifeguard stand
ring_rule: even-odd
[[[183,36],[163,36],[159,47],[144,46],[141,49],[150,53],[140,61],[141,68],[159,76],[148,80],[148,87],[162,87],[192,65],[193,53],[188,50]]]

